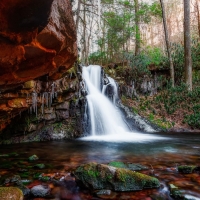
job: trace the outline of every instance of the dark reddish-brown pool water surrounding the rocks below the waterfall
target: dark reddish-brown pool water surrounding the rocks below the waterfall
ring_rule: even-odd
[[[44,171],[48,174],[68,174],[80,164],[92,161],[140,163],[149,167],[143,173],[157,177],[161,182],[161,187],[137,192],[114,193],[113,199],[173,199],[169,195],[169,184],[181,188],[189,199],[200,199],[199,172],[180,174],[177,171],[179,165],[200,165],[200,134],[148,134],[146,137],[145,134],[141,137],[136,134],[135,136],[137,139],[130,141],[118,139],[112,141],[110,138],[98,137],[0,146],[0,155],[11,152],[19,154],[10,158],[12,162],[15,162],[14,165],[7,169],[0,169],[0,175],[17,174],[16,163],[27,160],[33,154],[39,157],[38,163],[53,166]],[[6,160],[8,158],[0,156],[0,162]],[[54,189],[62,187],[57,190],[59,193],[63,191],[65,193],[65,197],[56,193],[56,199],[99,199],[76,185],[73,186],[73,190],[69,184],[53,187]]]

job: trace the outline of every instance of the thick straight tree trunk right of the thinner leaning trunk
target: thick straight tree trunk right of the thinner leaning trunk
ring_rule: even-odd
[[[185,50],[185,81],[188,86],[188,90],[192,91],[190,0],[184,0],[184,50]]]

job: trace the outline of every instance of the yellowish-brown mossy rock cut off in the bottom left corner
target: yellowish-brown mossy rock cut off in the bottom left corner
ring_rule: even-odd
[[[23,193],[20,189],[15,187],[0,187],[1,200],[23,200]]]

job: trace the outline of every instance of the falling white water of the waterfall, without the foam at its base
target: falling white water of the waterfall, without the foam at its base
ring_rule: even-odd
[[[122,134],[128,131],[120,111],[105,96],[105,90],[111,85],[114,90],[114,102],[118,98],[115,81],[109,78],[107,86],[101,88],[101,67],[90,65],[83,67],[83,79],[88,92],[87,102],[90,114],[91,135]]]

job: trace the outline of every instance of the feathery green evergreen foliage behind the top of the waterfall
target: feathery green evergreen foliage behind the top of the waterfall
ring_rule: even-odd
[[[161,16],[161,7],[158,2],[152,4],[140,2],[137,16],[134,12],[134,2],[118,0],[116,1],[117,9],[114,9],[113,3],[113,0],[102,0],[103,6],[108,9],[104,9],[105,12],[102,15],[104,19],[101,27],[103,34],[97,41],[100,50],[90,55],[90,62],[106,64],[125,60],[123,53],[127,52],[125,49],[127,42],[133,37],[140,40],[135,20],[139,19],[141,23],[149,23],[152,16]],[[136,61],[140,63],[143,59],[145,56],[142,54],[141,58]]]

